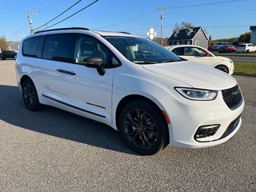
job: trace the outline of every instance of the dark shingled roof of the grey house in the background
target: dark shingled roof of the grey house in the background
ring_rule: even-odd
[[[196,34],[198,34],[198,31],[201,30],[202,27],[198,26],[198,27],[194,27],[193,29],[182,29],[182,30],[178,30],[178,34],[177,37],[174,37],[174,34],[177,33],[176,31],[174,31],[174,33],[170,36],[170,38],[168,39],[168,41],[184,41],[184,40],[192,40],[194,38],[194,36]],[[190,30],[191,34],[187,35],[187,31]],[[207,35],[205,33],[205,31],[202,29],[202,32],[204,33],[204,35],[207,38]],[[207,38],[208,40],[208,38]]]

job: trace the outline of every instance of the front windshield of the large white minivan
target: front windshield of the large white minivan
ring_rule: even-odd
[[[166,50],[156,42],[137,37],[105,37],[130,62],[154,64],[182,61],[176,54]]]

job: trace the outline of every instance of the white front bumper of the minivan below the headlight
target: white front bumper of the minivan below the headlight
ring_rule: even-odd
[[[162,99],[163,106],[168,106],[166,112],[170,118],[170,145],[188,148],[216,146],[230,139],[240,128],[240,114],[244,108],[244,100],[230,110],[222,98],[222,91],[214,101],[190,101],[175,95],[175,99]],[[175,102],[170,103],[171,100]],[[195,139],[199,127],[219,125],[217,132],[200,141]]]

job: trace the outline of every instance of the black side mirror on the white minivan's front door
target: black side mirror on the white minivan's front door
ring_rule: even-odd
[[[82,64],[87,66],[87,67],[97,69],[98,74],[100,74],[100,75],[105,74],[102,58],[98,58],[98,57],[85,58],[83,60]]]

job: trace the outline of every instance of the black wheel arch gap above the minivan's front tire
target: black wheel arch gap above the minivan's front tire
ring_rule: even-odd
[[[168,138],[168,143],[170,142],[170,131],[168,129],[168,121],[169,118],[167,117],[166,114],[163,114],[162,110],[160,109],[160,107],[154,102],[152,101],[150,98],[146,98],[145,96],[139,95],[139,94],[130,94],[127,95],[125,98],[122,98],[122,100],[118,103],[118,106],[116,108],[116,113],[115,113],[115,124],[118,130],[120,130],[120,128],[118,127],[118,119],[120,117],[121,111],[123,109],[124,106],[126,106],[127,103],[134,101],[134,100],[141,100],[141,101],[145,101],[145,102],[150,102],[151,104],[153,104],[154,106],[156,106],[158,108],[158,113],[161,114],[162,119],[164,120],[165,124],[166,124],[166,129],[167,129],[167,138]],[[168,120],[166,119],[168,118]]]

